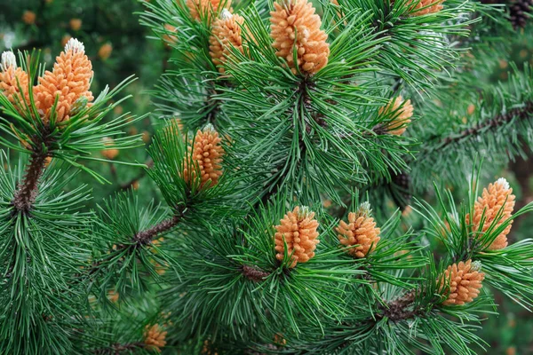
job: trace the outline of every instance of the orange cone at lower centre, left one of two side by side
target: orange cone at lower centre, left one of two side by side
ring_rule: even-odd
[[[274,226],[277,231],[274,234],[275,257],[283,260],[285,256],[285,245],[287,244],[287,255],[291,256],[290,268],[297,263],[306,263],[314,256],[318,238],[318,222],[314,219],[314,212],[310,212],[306,207],[295,207],[291,212],[282,218],[279,225]]]

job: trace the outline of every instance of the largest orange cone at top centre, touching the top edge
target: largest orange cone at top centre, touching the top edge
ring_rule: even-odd
[[[270,12],[270,36],[276,55],[287,60],[293,74],[299,71],[314,75],[328,64],[330,44],[328,35],[320,29],[322,20],[314,13],[313,4],[306,0],[283,0],[274,3]],[[297,51],[297,63],[294,63]]]

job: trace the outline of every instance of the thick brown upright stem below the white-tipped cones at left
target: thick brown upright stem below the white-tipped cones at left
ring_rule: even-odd
[[[37,144],[30,155],[24,178],[13,196],[12,205],[22,213],[28,213],[35,203],[39,179],[46,168],[46,160],[50,157],[52,139],[49,137],[48,128],[44,128],[42,133],[42,142],[38,142],[39,139],[36,139]]]

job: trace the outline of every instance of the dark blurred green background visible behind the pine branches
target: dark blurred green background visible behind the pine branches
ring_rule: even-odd
[[[145,119],[132,124],[126,134],[142,135],[145,145],[162,117],[152,112],[149,91],[157,83],[163,71],[168,69],[167,59],[171,50],[161,41],[148,38],[149,30],[139,25],[137,12],[144,11],[136,0],[0,0],[0,52],[13,49],[41,49],[46,67],[52,67],[55,56],[71,37],[84,42],[85,51],[91,59],[94,70],[93,93],[106,85],[115,87],[126,77],[135,75],[138,80],[126,88],[121,95],[131,99],[117,106],[113,115],[147,115]],[[513,51],[499,60],[492,75],[495,83],[505,81],[510,61],[530,61],[533,64],[533,38],[515,43]],[[120,98],[119,98],[120,99]],[[113,115],[107,117],[113,119]],[[169,117],[167,117],[169,118]],[[149,162],[146,146],[121,151],[115,160],[125,162]],[[90,163],[91,168],[111,184],[99,185],[88,174],[80,174],[73,184],[92,186],[94,199],[87,208],[94,208],[103,198],[112,193],[134,189],[140,201],[150,201],[157,196],[155,185],[143,170],[120,164]],[[98,166],[100,165],[100,166]],[[517,195],[517,209],[533,201],[533,178],[530,159],[518,160],[505,171],[495,171],[495,177],[507,177]],[[465,196],[459,195],[457,200]],[[414,214],[406,213],[406,223],[418,225]],[[513,225],[511,241],[530,237],[533,219],[519,218]],[[438,246],[436,246],[438,248]],[[501,295],[496,295],[500,305],[499,316],[487,315],[488,320],[481,330],[482,337],[489,343],[492,354],[533,354],[533,317],[516,304]]]

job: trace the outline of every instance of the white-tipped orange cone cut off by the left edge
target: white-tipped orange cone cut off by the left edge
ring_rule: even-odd
[[[17,67],[17,59],[12,51],[2,53],[0,64],[0,92],[14,105],[20,104],[20,109],[29,104],[28,74]],[[20,91],[21,89],[21,91]],[[25,101],[22,101],[24,98]]]

